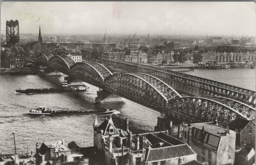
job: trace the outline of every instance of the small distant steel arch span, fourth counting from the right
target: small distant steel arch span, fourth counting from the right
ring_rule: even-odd
[[[55,55],[49,60],[49,67],[69,75],[70,67],[75,63],[76,62],[68,56],[60,57],[60,55]]]

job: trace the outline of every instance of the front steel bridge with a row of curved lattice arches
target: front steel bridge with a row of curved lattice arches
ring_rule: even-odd
[[[255,118],[255,110],[245,103],[217,96],[182,97],[171,85],[146,73],[113,75],[97,62],[76,63],[58,55],[49,59],[49,68],[187,122],[217,120],[218,124],[227,127],[236,118]]]

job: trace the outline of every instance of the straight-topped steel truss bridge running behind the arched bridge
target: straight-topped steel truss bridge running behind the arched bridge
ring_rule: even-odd
[[[191,96],[222,96],[235,99],[242,103],[246,103],[255,107],[256,93],[253,90],[243,89],[227,83],[216,82],[198,76],[192,76],[169,69],[159,68],[155,66],[146,66],[142,64],[134,64],[131,62],[109,61],[103,60],[113,71],[121,73],[147,73],[163,80],[172,86],[175,90],[184,92]]]

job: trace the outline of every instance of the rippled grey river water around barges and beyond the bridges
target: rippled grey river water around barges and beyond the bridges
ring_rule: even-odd
[[[255,90],[255,69],[196,69],[186,72],[212,80],[230,83],[246,89]],[[31,150],[35,152],[36,142],[64,139],[79,141],[84,146],[93,145],[93,121],[95,115],[74,115],[56,117],[31,117],[26,115],[30,108],[47,106],[49,108],[69,108],[86,110],[115,108],[120,114],[113,115],[116,127],[124,128],[125,118],[133,133],[154,131],[159,112],[124,99],[124,103],[95,105],[97,87],[88,84],[86,92],[58,94],[15,94],[15,89],[47,88],[61,85],[63,75],[40,77],[38,75],[0,75],[0,154],[14,153],[13,135],[18,154]],[[108,115],[99,115],[101,123]]]

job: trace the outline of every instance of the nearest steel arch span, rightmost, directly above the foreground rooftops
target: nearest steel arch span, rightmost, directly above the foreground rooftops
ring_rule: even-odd
[[[204,97],[181,97],[173,99],[169,103],[166,115],[175,117],[186,122],[212,122],[227,127],[236,118],[250,120],[243,113],[235,110],[227,104],[214,99]]]

